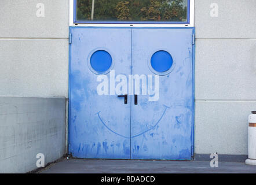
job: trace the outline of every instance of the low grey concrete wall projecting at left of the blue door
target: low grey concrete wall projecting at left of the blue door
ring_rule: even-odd
[[[0,97],[0,173],[25,173],[65,154],[65,98]]]

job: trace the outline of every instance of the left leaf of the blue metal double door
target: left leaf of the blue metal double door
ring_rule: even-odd
[[[80,27],[70,32],[70,153],[78,158],[130,158],[130,101],[125,105],[117,95],[98,95],[99,75],[91,69],[97,64],[90,66],[90,57],[94,51],[100,57],[107,51],[115,75],[128,76],[131,29]]]

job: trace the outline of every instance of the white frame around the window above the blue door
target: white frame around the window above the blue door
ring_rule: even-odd
[[[190,0],[189,24],[122,24],[122,23],[74,23],[74,0],[70,0],[71,27],[194,27],[195,0]]]

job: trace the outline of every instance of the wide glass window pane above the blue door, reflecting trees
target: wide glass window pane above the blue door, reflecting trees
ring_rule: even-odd
[[[188,0],[76,0],[76,23],[188,22]]]

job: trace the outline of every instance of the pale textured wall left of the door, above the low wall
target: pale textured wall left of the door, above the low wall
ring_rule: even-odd
[[[0,96],[68,98],[68,17],[68,0],[0,1]]]

